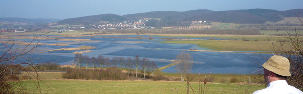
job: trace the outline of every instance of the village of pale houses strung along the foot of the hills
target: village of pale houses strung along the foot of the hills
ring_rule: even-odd
[[[16,32],[22,33],[27,31],[72,31],[77,29],[101,29],[101,30],[115,30],[115,29],[156,29],[155,27],[147,26],[146,22],[149,20],[131,20],[131,21],[123,21],[123,22],[109,22],[106,24],[89,24],[89,25],[66,25],[63,27],[43,27],[43,28],[1,28],[0,32]],[[21,23],[21,22],[6,22],[10,24],[32,24],[32,23]],[[189,22],[190,24],[211,24],[208,21],[192,21]],[[50,23],[50,24],[57,24],[57,23]],[[20,25],[20,26],[22,26]],[[161,29],[210,29],[210,26],[175,26],[175,27],[161,27]]]

